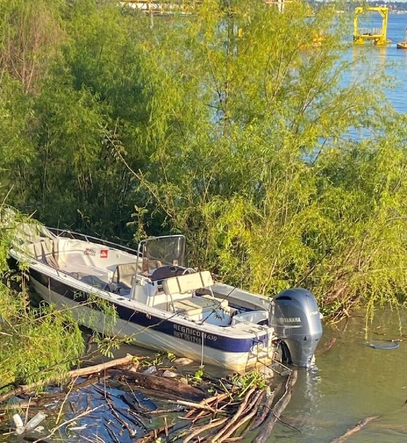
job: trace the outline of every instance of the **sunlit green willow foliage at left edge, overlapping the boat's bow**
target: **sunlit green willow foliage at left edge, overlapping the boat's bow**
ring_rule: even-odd
[[[30,303],[26,275],[10,274],[10,247],[26,217],[0,208],[0,391],[14,383],[60,379],[83,353],[83,339],[69,310]],[[24,269],[24,265],[22,264]]]

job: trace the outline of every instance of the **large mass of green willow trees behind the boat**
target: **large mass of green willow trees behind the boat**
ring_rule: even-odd
[[[19,208],[185,233],[192,266],[270,296],[307,287],[329,315],[405,300],[406,119],[350,54],[340,5],[205,0],[153,23],[113,0],[0,8],[0,167]]]

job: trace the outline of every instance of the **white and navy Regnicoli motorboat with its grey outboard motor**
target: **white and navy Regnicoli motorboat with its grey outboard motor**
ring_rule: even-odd
[[[322,324],[305,289],[271,299],[214,282],[208,270],[188,266],[183,235],[143,239],[132,249],[69,230],[26,225],[21,233],[11,257],[27,264],[46,302],[72,308],[88,328],[236,372],[277,356],[311,364]],[[110,326],[99,300],[117,312]]]

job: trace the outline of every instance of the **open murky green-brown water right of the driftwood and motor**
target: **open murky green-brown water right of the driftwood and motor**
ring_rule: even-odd
[[[407,340],[395,350],[365,346],[365,339],[394,339],[405,330],[407,314],[377,313],[372,331],[365,337],[363,318],[338,327],[326,327],[324,342],[337,341],[317,357],[316,368],[301,371],[284,420],[301,433],[281,424],[274,437],[288,442],[327,442],[358,421],[382,416],[356,434],[352,441],[405,442],[407,440]],[[385,335],[378,335],[379,333]]]

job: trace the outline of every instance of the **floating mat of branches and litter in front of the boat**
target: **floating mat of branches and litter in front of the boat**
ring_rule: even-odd
[[[84,441],[97,431],[105,441],[153,443],[161,436],[183,443],[203,439],[228,443],[243,438],[247,430],[260,429],[263,438],[264,429],[271,432],[295,382],[295,371],[288,377],[275,375],[272,379],[256,372],[221,378],[203,371],[199,376],[193,371],[181,374],[166,369],[173,361],[165,358],[156,358],[157,366],[150,366],[147,373],[149,362],[134,372],[130,370],[134,361],[127,355],[75,369],[69,387],[51,385],[47,393],[29,394],[35,391],[34,384],[17,387],[17,405],[15,401],[3,402],[3,409],[7,412],[11,405],[25,409],[27,419],[32,418],[24,428],[20,415],[14,415],[15,432],[35,430],[38,441],[61,437]],[[275,398],[275,392],[281,395]],[[54,416],[64,414],[66,420],[58,423],[57,419],[56,424],[50,420],[45,431],[38,424],[46,418],[44,405],[52,400]]]

